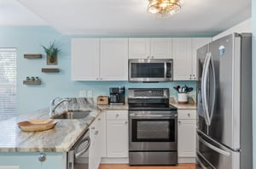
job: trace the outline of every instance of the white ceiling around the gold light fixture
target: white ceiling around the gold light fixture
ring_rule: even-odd
[[[0,25],[51,25],[69,35],[214,35],[251,17],[252,0],[182,0],[168,19],[148,0],[0,0]]]

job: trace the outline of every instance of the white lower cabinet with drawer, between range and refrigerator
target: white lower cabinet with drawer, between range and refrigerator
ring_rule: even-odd
[[[195,162],[196,110],[177,110],[179,163]]]

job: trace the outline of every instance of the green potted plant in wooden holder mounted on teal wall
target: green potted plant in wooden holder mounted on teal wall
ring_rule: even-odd
[[[61,49],[55,47],[55,41],[49,42],[49,47],[45,47],[44,52],[47,54],[47,65],[57,65],[57,54],[61,51]]]

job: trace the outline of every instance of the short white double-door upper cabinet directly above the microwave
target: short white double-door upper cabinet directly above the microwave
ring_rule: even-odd
[[[129,38],[129,59],[171,59],[172,38]]]

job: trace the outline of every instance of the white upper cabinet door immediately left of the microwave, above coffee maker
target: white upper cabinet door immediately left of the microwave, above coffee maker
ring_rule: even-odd
[[[128,39],[101,39],[100,50],[100,80],[128,80]]]

